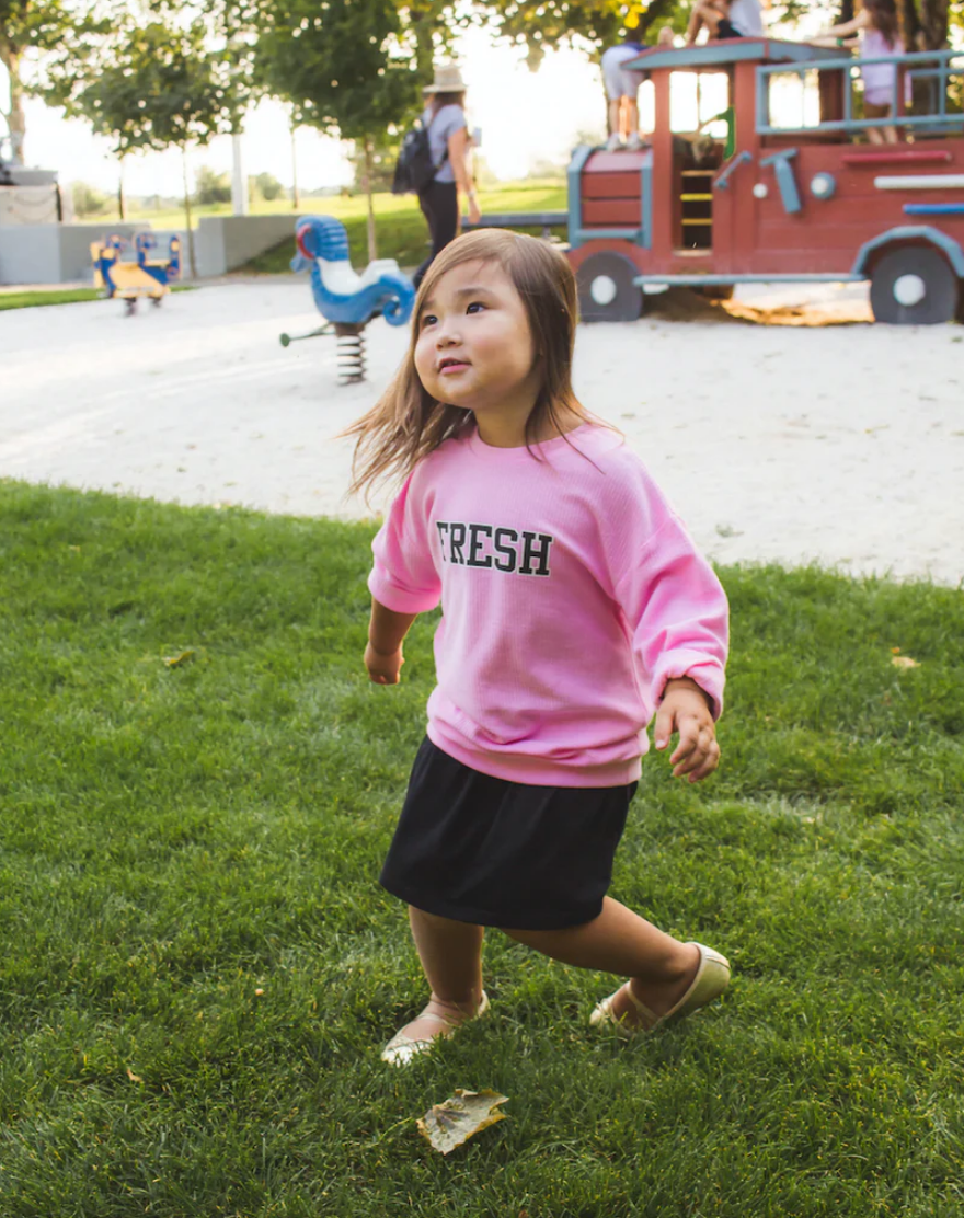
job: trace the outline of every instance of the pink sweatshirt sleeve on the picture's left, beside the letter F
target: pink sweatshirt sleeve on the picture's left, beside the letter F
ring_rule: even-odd
[[[372,542],[374,565],[368,590],[394,613],[425,613],[441,600],[429,535],[429,513],[419,493],[418,470],[408,475]]]

